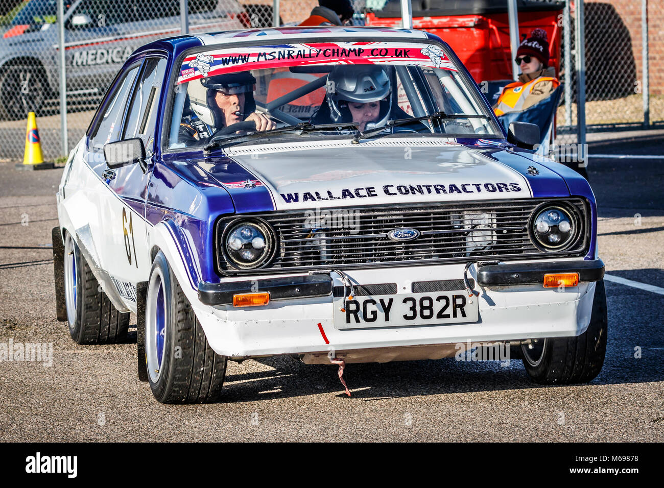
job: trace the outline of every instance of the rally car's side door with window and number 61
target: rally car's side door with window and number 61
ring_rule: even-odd
[[[100,205],[100,222],[109,236],[102,248],[104,268],[120,295],[135,304],[135,285],[149,275],[151,262],[147,248],[145,197],[155,152],[155,130],[166,58],[143,60],[137,81],[126,100],[122,129],[112,139],[139,138],[145,147],[145,164],[133,163],[107,171],[108,192]],[[112,142],[112,141],[108,141]],[[131,306],[130,306],[131,308]]]

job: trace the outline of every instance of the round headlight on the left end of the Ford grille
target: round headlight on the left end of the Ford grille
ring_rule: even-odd
[[[272,230],[260,220],[231,222],[222,234],[224,257],[236,268],[258,268],[274,251]]]

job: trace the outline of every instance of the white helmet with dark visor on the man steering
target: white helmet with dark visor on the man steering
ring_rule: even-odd
[[[214,102],[216,92],[222,92],[226,95],[244,93],[242,112],[251,114],[256,112],[254,90],[256,90],[256,78],[248,71],[208,76],[207,78],[191,80],[187,85],[191,110],[203,122],[217,128],[223,127],[225,120],[221,110]]]

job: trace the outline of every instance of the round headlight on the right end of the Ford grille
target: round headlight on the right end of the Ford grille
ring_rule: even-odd
[[[580,219],[563,205],[550,204],[535,211],[531,236],[535,245],[545,251],[568,248],[580,235]]]

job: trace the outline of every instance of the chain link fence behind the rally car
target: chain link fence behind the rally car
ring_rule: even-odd
[[[394,1],[355,0],[353,23],[363,25],[367,12],[380,11]],[[557,19],[558,78],[565,90],[556,114],[556,141],[563,144],[577,140],[576,9],[573,1],[570,4]],[[651,11],[658,8],[653,4],[650,0]],[[280,25],[297,25],[316,5],[317,0],[280,0]],[[420,8],[416,0],[413,5]],[[71,148],[129,54],[141,44],[179,35],[185,16],[181,0],[64,0],[63,9],[66,146]],[[641,55],[641,1],[586,0],[584,10],[588,129],[643,127],[642,92],[647,83]],[[187,13],[192,34],[274,25],[273,0],[187,0]],[[54,159],[66,153],[58,30],[58,0],[0,0],[0,157],[23,157],[28,112],[37,114],[44,156]],[[657,62],[657,54],[651,54],[650,66]],[[661,87],[654,88],[649,123],[664,124],[664,96]]]

